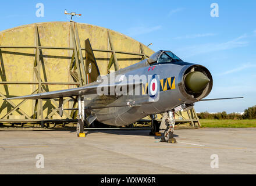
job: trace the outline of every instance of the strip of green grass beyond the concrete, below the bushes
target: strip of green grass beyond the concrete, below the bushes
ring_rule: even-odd
[[[248,128],[256,127],[256,120],[200,120],[201,127]]]

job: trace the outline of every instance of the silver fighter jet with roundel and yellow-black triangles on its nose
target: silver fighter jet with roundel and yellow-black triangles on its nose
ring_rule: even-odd
[[[152,126],[153,131],[165,130],[162,141],[173,138],[175,112],[189,109],[198,101],[216,100],[203,99],[212,90],[209,70],[184,62],[171,51],[155,52],[148,59],[101,76],[88,39],[86,45],[86,85],[8,99],[57,98],[62,116],[63,98],[77,96],[77,135],[83,133],[84,125],[90,126],[95,120],[110,126],[128,126],[145,116],[167,113],[163,126],[155,122]]]

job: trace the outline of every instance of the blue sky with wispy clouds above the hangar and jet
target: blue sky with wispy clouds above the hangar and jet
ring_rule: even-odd
[[[35,16],[37,3],[44,17]],[[218,3],[219,17],[211,17]],[[69,21],[63,14],[81,13],[74,21],[110,28],[169,49],[186,62],[207,67],[214,88],[207,98],[244,99],[195,103],[197,112],[243,112],[256,105],[256,1],[2,1],[0,30],[23,24]]]

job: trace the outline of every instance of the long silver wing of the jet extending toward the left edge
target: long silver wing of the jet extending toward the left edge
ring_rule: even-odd
[[[140,85],[141,83],[118,83],[118,84],[105,84],[99,85],[92,83],[91,85],[86,85],[84,87],[72,88],[67,90],[59,90],[59,91],[51,91],[51,92],[43,92],[40,94],[33,95],[24,95],[24,96],[16,96],[9,99],[52,99],[52,98],[63,98],[68,96],[77,96],[77,95],[87,95],[87,94],[97,94],[97,88],[115,88],[116,86],[132,86],[132,85]]]

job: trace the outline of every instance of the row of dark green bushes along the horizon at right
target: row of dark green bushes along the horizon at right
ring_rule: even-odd
[[[239,113],[230,113],[227,114],[225,111],[218,113],[208,113],[208,112],[200,112],[197,113],[199,119],[232,119],[232,120],[241,120],[241,119],[256,119],[256,105],[249,107],[244,110],[243,115]]]

